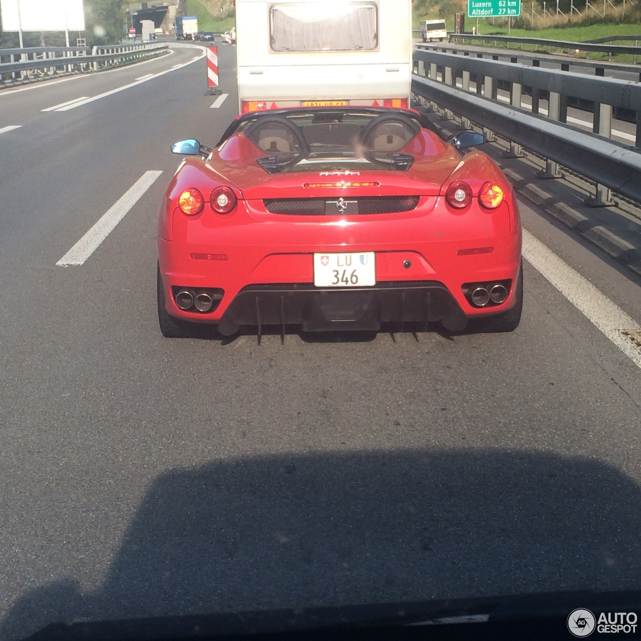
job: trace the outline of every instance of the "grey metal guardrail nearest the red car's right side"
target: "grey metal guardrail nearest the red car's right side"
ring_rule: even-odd
[[[414,51],[412,91],[445,109],[446,117],[458,113],[463,126],[470,121],[510,140],[510,153],[520,147],[546,158],[544,177],[560,176],[558,165],[572,169],[597,183],[592,203],[611,204],[610,190],[641,202],[641,153],[610,139],[613,105],[637,112],[637,147],[641,147],[641,85],[613,78],[536,69],[508,62],[469,56]],[[442,68],[440,81],[438,69]],[[470,76],[476,75],[476,92],[470,92]],[[462,89],[456,79],[462,78]],[[510,106],[496,102],[497,80],[510,82]],[[522,108],[522,87],[533,88],[532,112]],[[601,85],[599,87],[599,85]],[[538,115],[538,93],[549,91],[548,116]],[[565,124],[568,92],[590,96],[595,103],[594,132]],[[565,103],[565,113],[563,108]]]

